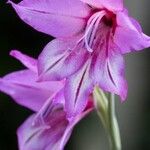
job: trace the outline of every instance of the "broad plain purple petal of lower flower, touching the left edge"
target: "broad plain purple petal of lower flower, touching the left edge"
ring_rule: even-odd
[[[45,100],[63,87],[62,82],[36,82],[37,74],[23,70],[0,78],[0,91],[18,104],[38,111]]]

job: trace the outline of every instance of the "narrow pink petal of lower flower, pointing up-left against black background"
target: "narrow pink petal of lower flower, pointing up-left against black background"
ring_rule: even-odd
[[[12,50],[10,55],[18,59],[24,66],[37,73],[37,60],[27,56],[20,51]]]

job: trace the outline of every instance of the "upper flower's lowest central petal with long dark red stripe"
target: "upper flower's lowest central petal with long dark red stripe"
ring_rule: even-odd
[[[90,64],[86,62],[82,69],[66,80],[65,109],[68,117],[80,114],[87,105],[87,99],[94,87],[89,70]]]

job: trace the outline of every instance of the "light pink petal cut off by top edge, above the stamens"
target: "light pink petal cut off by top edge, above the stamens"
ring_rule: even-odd
[[[106,8],[111,11],[123,10],[122,0],[81,0],[96,8]]]

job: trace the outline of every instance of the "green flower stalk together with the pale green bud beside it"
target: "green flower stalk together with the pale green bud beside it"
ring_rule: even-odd
[[[111,150],[121,150],[119,126],[115,114],[115,95],[110,94],[109,99],[98,87],[93,92],[97,107],[97,114],[109,138]]]

